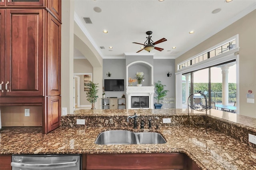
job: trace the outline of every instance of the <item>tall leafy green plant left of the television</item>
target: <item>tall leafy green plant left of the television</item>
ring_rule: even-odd
[[[98,84],[92,83],[92,81],[89,81],[89,83],[85,84],[88,88],[88,91],[86,92],[87,101],[92,103],[92,108],[95,109],[94,104],[98,99],[97,93],[98,93]]]

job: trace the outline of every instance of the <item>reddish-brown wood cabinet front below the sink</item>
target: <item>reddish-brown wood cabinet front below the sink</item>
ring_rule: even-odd
[[[83,154],[83,170],[200,170],[183,153]]]

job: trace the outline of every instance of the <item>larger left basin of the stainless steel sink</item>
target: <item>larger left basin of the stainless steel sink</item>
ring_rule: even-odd
[[[137,144],[136,136],[128,130],[108,130],[100,133],[96,144]]]

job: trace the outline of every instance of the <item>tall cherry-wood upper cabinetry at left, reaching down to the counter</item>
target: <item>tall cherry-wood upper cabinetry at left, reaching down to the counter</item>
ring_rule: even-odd
[[[42,106],[48,133],[60,125],[61,0],[1,0],[0,8],[0,105]]]

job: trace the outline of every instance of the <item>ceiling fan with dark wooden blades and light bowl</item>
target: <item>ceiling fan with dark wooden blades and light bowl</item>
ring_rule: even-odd
[[[142,49],[140,49],[139,51],[137,51],[136,53],[142,51],[143,49],[145,49],[148,52],[152,51],[153,49],[156,49],[158,51],[163,51],[164,50],[163,48],[155,47],[155,45],[158,44],[158,43],[167,41],[165,38],[162,38],[162,39],[160,39],[156,42],[153,42],[151,40],[152,36],[150,36],[152,34],[152,31],[147,31],[146,34],[148,35],[148,37],[146,37],[147,40],[144,42],[144,44],[143,43],[137,43],[137,44],[140,44],[140,45],[144,45],[144,47]],[[133,43],[136,43],[136,42],[133,42]]]

